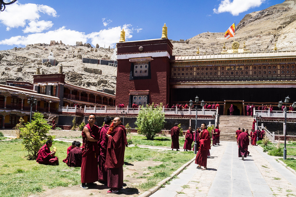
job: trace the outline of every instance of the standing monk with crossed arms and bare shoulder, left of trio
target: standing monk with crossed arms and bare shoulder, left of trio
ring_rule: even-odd
[[[94,125],[96,115],[90,114],[89,123],[83,127],[82,135],[82,162],[81,162],[81,185],[88,189],[87,185],[96,185],[94,182],[98,177],[98,156],[99,156],[99,127]]]

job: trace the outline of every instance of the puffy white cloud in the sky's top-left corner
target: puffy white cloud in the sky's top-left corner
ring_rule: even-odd
[[[20,4],[18,2],[9,5],[1,12],[0,22],[7,26],[6,30],[16,27],[25,27],[27,22],[37,21],[40,12],[57,17],[57,12],[49,6],[38,4]]]

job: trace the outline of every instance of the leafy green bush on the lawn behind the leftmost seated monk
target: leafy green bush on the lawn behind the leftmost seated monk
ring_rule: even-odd
[[[44,119],[43,114],[35,112],[31,123],[25,124],[25,127],[20,128],[20,134],[23,137],[22,144],[28,150],[30,159],[36,159],[37,152],[46,142],[46,140],[54,139],[55,136],[47,135],[51,126]]]

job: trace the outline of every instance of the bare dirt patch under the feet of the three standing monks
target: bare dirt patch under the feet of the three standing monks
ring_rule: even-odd
[[[137,178],[142,176],[143,173],[147,173],[146,169],[148,166],[160,165],[162,162],[154,161],[140,161],[134,162],[132,164],[126,164],[123,168],[123,190],[119,190],[115,194],[107,194],[110,189],[107,185],[103,185],[96,182],[96,186],[90,187],[88,190],[80,188],[80,185],[75,185],[72,187],[56,187],[53,189],[45,188],[45,191],[40,195],[31,195],[31,197],[36,196],[139,196],[144,191],[134,188],[136,185],[145,182],[146,179]],[[149,176],[149,175],[146,175]]]

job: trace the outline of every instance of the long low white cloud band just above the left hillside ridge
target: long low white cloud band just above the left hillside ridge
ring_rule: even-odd
[[[62,40],[63,43],[69,45],[75,45],[76,41],[82,41],[83,43],[91,43],[93,46],[99,44],[100,46],[105,45],[108,47],[110,45],[112,48],[115,48],[116,43],[120,40],[120,31],[122,29],[126,32],[126,41],[132,38],[133,31],[139,32],[142,30],[141,28],[131,28],[131,26],[131,24],[125,24],[123,26],[112,27],[100,30],[99,32],[92,32],[90,34],[61,27],[57,30],[45,33],[34,33],[27,36],[14,36],[9,39],[1,40],[0,44],[17,45],[20,47],[35,43],[49,44],[50,40]]]

